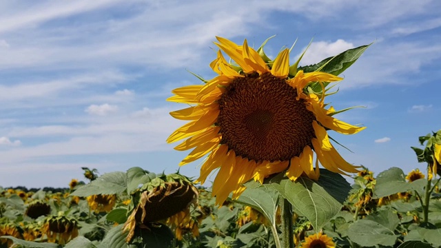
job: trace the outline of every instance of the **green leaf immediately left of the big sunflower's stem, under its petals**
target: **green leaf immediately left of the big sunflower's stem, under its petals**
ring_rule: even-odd
[[[278,192],[267,185],[250,181],[245,183],[247,189],[239,196],[236,203],[248,205],[262,213],[273,225],[276,225]]]

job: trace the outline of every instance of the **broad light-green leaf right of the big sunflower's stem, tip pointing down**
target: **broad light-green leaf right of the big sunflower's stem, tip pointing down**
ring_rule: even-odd
[[[316,230],[320,230],[336,216],[342,207],[326,189],[309,178],[300,177],[293,182],[283,174],[278,174],[271,178],[269,185],[287,199],[295,211],[305,216]],[[332,185],[332,187],[340,187],[340,185]]]

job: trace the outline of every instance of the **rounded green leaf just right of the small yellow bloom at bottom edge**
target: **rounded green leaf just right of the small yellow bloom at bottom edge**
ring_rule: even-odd
[[[373,220],[357,220],[349,226],[348,236],[362,247],[375,245],[392,246],[397,236],[393,230]]]

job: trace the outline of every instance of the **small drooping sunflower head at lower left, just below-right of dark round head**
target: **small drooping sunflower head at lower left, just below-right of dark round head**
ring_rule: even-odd
[[[64,245],[79,234],[79,223],[74,218],[62,214],[46,218],[43,233],[48,236],[48,242],[57,242]]]

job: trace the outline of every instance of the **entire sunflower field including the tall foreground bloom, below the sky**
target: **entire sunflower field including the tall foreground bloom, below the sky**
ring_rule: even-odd
[[[441,130],[411,147],[424,172],[375,176],[334,147],[331,132],[366,127],[325,98],[369,45],[299,67],[293,48],[269,59],[269,39],[217,40],[216,76],[167,99],[187,105],[170,112],[188,122],[167,143],[192,149],[179,165],[203,161],[198,178],[83,167],[65,189],[0,187],[0,248],[441,247]]]

